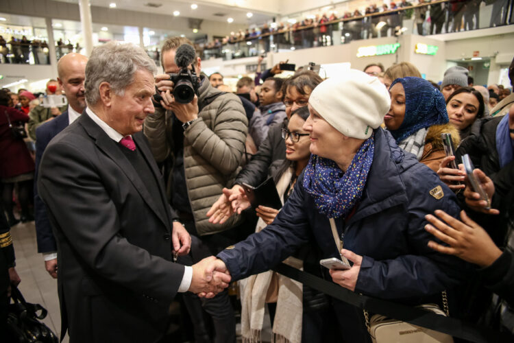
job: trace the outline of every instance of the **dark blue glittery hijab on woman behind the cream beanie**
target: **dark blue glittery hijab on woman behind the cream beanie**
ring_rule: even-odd
[[[400,143],[422,128],[448,123],[444,96],[430,82],[408,76],[397,78],[391,87],[398,82],[404,86],[405,117],[400,128],[389,130],[396,143]]]

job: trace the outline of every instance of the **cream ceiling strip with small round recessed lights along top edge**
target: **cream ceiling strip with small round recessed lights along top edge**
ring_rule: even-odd
[[[67,3],[77,3],[77,0],[56,0]],[[254,12],[249,11],[245,8],[225,5],[223,0],[220,1],[208,1],[206,2],[195,2],[195,1],[170,1],[170,0],[90,0],[91,5],[99,6],[104,8],[109,8],[110,3],[116,3],[117,9],[121,10],[130,10],[135,12],[147,12],[147,13],[156,13],[156,14],[168,14],[173,15],[173,12],[178,10],[180,12],[180,16],[184,16],[186,18],[195,18],[195,19],[206,19],[210,21],[221,21],[227,22],[229,17],[234,19],[234,23],[239,24],[247,24],[247,25],[259,25],[265,23],[265,21],[269,21],[273,18],[273,13],[271,12]],[[149,7],[147,3],[156,3],[161,4],[158,8]],[[198,8],[196,10],[191,9],[191,4],[196,3]],[[252,12],[254,15],[252,18],[247,18],[247,12]],[[222,14],[221,16],[215,14]],[[93,18],[93,22],[95,18]],[[130,25],[130,23],[127,23]]]

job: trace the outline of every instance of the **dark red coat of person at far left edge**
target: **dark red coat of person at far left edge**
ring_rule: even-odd
[[[11,123],[29,121],[29,116],[16,108],[0,106],[0,178],[10,178],[34,171],[34,160],[23,139],[12,137],[5,113]]]

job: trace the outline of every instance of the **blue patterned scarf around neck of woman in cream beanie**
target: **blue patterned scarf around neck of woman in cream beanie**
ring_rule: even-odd
[[[344,174],[334,161],[314,154],[310,156],[304,187],[313,196],[320,213],[329,218],[345,218],[363,196],[373,163],[374,137],[375,132],[360,146]]]

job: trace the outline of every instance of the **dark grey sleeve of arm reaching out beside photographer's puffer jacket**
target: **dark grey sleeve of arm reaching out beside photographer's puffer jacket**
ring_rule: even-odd
[[[280,134],[280,125],[269,129],[265,141],[259,145],[259,150],[252,156],[252,160],[239,172],[234,184],[241,185],[245,182],[248,185],[258,186],[265,180],[268,168],[273,162],[273,136],[277,134]]]

